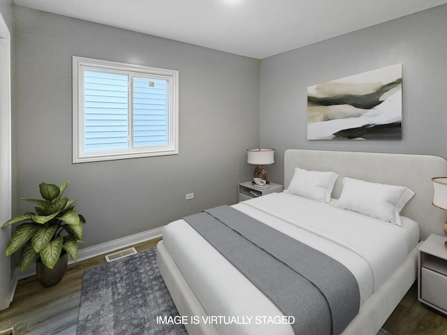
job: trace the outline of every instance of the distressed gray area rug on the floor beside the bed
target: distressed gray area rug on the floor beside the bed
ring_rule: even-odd
[[[157,323],[179,315],[156,266],[156,248],[87,269],[78,335],[187,335],[184,325]],[[390,335],[381,329],[377,335]]]

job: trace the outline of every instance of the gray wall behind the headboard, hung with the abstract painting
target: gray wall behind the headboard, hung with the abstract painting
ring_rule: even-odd
[[[283,180],[284,151],[326,149],[447,157],[447,6],[439,6],[261,61],[262,147]],[[307,87],[402,63],[402,140],[308,141]]]

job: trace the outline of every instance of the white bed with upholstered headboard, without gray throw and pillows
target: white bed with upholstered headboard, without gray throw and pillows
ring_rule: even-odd
[[[331,188],[330,201],[281,193],[240,202],[232,208],[288,236],[299,235],[295,237],[304,239],[304,243],[323,252],[325,249],[338,250],[339,253],[331,257],[353,272],[360,292],[360,309],[342,334],[374,335],[416,280],[419,241],[432,233],[443,234],[441,223],[446,221],[446,214],[431,204],[433,190],[430,179],[447,174],[447,161],[426,155],[289,149],[284,155],[286,189],[295,185],[296,168],[307,172],[335,172],[338,177],[333,190]],[[400,225],[383,223],[382,219],[335,207],[334,202],[341,200],[341,196],[345,198],[342,191],[343,188],[348,189],[350,179],[411,189],[414,194],[404,204],[400,215],[396,216]],[[303,221],[303,216],[305,220],[299,223],[298,230],[295,223],[291,225],[291,222],[295,222],[297,208],[307,211],[300,210],[299,220]],[[314,212],[321,213],[323,218],[317,220]],[[329,232],[331,225],[328,223],[335,216],[340,216],[340,224],[346,222],[346,226]],[[314,228],[309,228],[306,223],[312,222],[314,225],[314,221],[322,227],[316,233],[317,237],[312,231]],[[357,225],[361,228],[356,228]],[[383,226],[386,230],[376,232],[376,228],[369,228],[371,225],[377,225],[378,229]],[[354,232],[356,229],[358,232]],[[336,243],[319,245],[321,231],[324,234],[335,234],[336,238],[331,239]],[[366,235],[381,237],[380,244],[374,241],[372,248],[362,249],[356,255],[346,253],[346,246],[340,244],[340,241],[348,243],[352,250],[363,248],[367,244],[363,243],[367,241]],[[364,262],[362,258],[365,258],[365,254],[372,258]],[[385,255],[386,260],[379,258],[383,257],[379,254]],[[245,315],[287,315],[183,219],[164,228],[163,240],[157,246],[157,263],[180,315],[185,315],[184,320],[189,320],[184,322],[189,335],[294,334],[288,322],[265,322],[268,319],[251,322],[248,317],[244,318]],[[368,271],[370,276],[366,274]],[[362,276],[365,280],[359,278]],[[233,319],[233,322],[228,322],[230,319],[204,322],[210,320],[207,316],[219,315],[239,315],[240,319]]]

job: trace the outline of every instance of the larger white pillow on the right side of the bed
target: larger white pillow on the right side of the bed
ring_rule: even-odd
[[[343,190],[335,207],[358,211],[381,221],[402,225],[400,211],[414,195],[404,186],[370,183],[345,177]]]

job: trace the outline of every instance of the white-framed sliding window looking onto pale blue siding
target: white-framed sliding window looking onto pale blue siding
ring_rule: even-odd
[[[73,57],[73,163],[178,154],[178,71]]]

